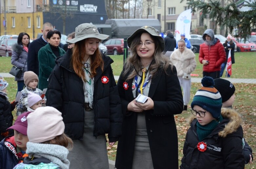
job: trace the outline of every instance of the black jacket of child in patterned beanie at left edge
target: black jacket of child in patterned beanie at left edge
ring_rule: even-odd
[[[6,132],[6,129],[12,126],[13,116],[11,111],[14,107],[11,106],[10,102],[6,100],[6,97],[0,93],[0,139],[4,137],[1,134]],[[13,134],[13,130],[9,133]]]

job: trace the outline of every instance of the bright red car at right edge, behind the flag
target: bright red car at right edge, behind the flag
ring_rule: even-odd
[[[232,38],[237,45],[237,52],[254,52],[256,51],[256,44],[244,41],[244,39]],[[245,42],[245,43],[244,43]]]

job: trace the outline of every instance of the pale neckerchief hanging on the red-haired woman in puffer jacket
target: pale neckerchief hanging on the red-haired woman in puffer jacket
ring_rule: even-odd
[[[92,109],[92,102],[93,102],[93,87],[91,85],[91,73],[90,73],[90,60],[88,59],[87,62],[84,63],[83,68],[85,70],[85,88],[88,94],[88,102],[89,106]],[[88,81],[89,80],[89,81]]]

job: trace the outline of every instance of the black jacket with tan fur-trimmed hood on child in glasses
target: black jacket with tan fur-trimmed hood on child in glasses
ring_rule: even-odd
[[[228,108],[223,108],[221,114],[224,120],[202,141],[207,144],[204,152],[197,149],[197,120],[191,118],[191,127],[187,131],[183,147],[181,169],[245,168],[242,119],[235,110]]]

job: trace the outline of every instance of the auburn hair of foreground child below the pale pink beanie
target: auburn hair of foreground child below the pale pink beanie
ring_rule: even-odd
[[[43,142],[42,144],[57,144],[62,145],[69,150],[73,148],[73,141],[70,139],[65,133],[56,136],[54,139],[51,139],[49,141]]]

